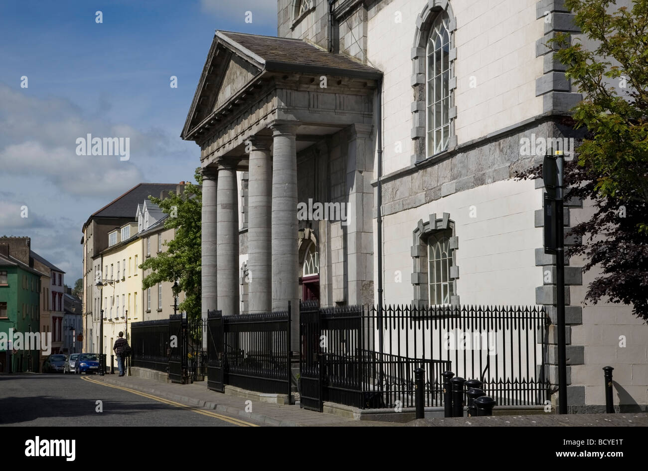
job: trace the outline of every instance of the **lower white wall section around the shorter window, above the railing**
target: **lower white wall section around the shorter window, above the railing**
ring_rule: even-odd
[[[459,237],[456,295],[461,304],[535,305],[535,288],[542,285],[542,270],[535,266],[542,230],[534,226],[534,211],[542,207],[540,199],[541,191],[533,181],[503,180],[384,217],[386,303],[411,303],[412,231],[419,219],[426,221],[431,213],[440,218],[446,212]]]

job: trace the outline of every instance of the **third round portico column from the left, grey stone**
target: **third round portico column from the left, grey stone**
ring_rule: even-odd
[[[272,310],[272,161],[270,136],[254,136],[249,152],[249,312]]]

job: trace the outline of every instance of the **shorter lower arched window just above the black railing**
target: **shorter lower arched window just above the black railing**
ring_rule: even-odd
[[[428,237],[428,283],[430,304],[450,304],[454,283],[450,278],[452,230],[435,231]]]

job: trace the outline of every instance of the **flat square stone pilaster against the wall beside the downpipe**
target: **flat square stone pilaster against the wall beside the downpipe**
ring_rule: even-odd
[[[349,304],[373,304],[373,145],[371,125],[347,128],[347,221],[342,229],[347,247]]]

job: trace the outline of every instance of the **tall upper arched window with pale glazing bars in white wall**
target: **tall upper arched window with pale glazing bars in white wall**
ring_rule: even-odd
[[[430,157],[448,148],[450,136],[450,35],[443,14],[432,23],[426,58],[426,152]]]

